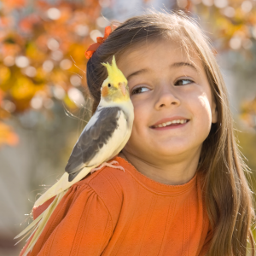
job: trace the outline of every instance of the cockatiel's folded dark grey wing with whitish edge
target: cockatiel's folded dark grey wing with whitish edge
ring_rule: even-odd
[[[125,133],[127,122],[125,121],[126,127],[119,127],[120,125],[124,126],[124,121],[125,113],[119,107],[97,109],[96,114],[90,119],[81,133],[68,160],[65,171],[69,174],[69,182],[73,181],[73,178],[85,166],[100,165],[103,161],[106,161],[107,156],[111,156],[114,150],[112,151],[111,148],[108,148],[108,152],[105,152],[104,146],[109,143],[112,137],[116,137],[114,131],[119,130],[119,132]],[[116,143],[112,147],[119,147],[121,142]]]

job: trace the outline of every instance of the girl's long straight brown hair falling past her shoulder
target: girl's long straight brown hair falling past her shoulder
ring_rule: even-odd
[[[119,60],[125,50],[160,38],[178,40],[188,53],[193,50],[200,57],[217,103],[218,122],[212,124],[198,164],[198,170],[205,176],[204,200],[213,234],[208,255],[246,256],[247,239],[254,254],[251,225],[255,214],[252,192],[244,173],[248,172],[248,167],[237,147],[224,79],[212,46],[195,20],[180,12],[151,11],[119,23],[87,64],[93,112],[100,101],[102,82],[108,76],[101,63],[111,61],[113,55]]]

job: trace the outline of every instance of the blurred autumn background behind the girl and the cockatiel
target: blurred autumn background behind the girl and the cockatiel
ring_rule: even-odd
[[[85,50],[112,20],[147,8],[183,9],[212,40],[255,191],[255,0],[2,0],[0,255],[19,254],[25,242],[14,247],[14,236],[31,222],[38,193],[61,177],[90,117]]]

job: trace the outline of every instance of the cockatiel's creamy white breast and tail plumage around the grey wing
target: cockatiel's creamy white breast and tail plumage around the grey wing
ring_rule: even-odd
[[[131,100],[129,99],[125,102],[106,102],[104,98],[102,98],[99,108],[106,107],[119,107],[122,109],[122,111],[119,111],[118,128],[113,132],[113,135],[108,140],[108,143],[103,145],[95,157],[90,160],[89,163],[87,163],[87,166],[84,166],[81,172],[74,177],[72,182],[68,182],[69,174],[65,172],[60,180],[49,188],[44,195],[41,195],[35,202],[35,206],[40,206],[45,201],[48,201],[50,198],[56,195],[55,200],[49,205],[49,207],[40,216],[38,216],[38,218],[35,219],[32,224],[30,224],[25,230],[15,237],[18,238],[23,236],[26,234],[26,232],[33,229],[32,234],[34,234],[34,236],[32,237],[32,241],[30,241],[23,256],[26,256],[26,254],[32,250],[32,247],[35,245],[36,241],[38,241],[38,237],[43,232],[51,213],[55,210],[55,207],[57,207],[58,203],[61,201],[61,198],[67,193],[67,189],[69,189],[74,183],[79,182],[79,180],[84,178],[96,166],[100,166],[103,162],[111,160],[113,156],[119,154],[119,151],[125,147],[125,144],[131,136],[131,128],[134,119],[133,105]],[[88,124],[84,127],[84,131],[87,131],[96,123],[98,116],[99,112],[97,111],[90,119]]]

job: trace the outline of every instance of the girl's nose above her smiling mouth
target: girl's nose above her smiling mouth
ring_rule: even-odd
[[[154,108],[157,110],[180,105],[180,99],[177,96],[177,92],[175,92],[175,88],[171,84],[160,84],[155,96],[157,98]]]

